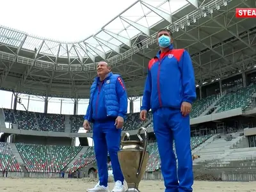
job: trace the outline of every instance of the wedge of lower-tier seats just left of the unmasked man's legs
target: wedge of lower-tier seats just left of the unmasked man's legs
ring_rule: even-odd
[[[76,172],[77,169],[83,168],[87,164],[95,162],[95,153],[93,147],[88,147],[86,152],[77,159],[72,166],[67,169],[67,172]]]

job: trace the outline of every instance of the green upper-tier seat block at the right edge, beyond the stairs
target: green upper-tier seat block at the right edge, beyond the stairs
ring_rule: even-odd
[[[236,92],[227,93],[216,104],[220,106],[218,112],[228,111],[231,109],[242,108],[243,110],[248,108],[252,103],[252,95],[256,92],[256,85],[241,88]]]

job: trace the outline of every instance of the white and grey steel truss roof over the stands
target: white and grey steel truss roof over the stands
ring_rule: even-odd
[[[141,95],[148,61],[159,49],[156,33],[161,28],[172,31],[176,48],[191,54],[198,86],[253,70],[256,23],[235,17],[236,8],[252,7],[254,0],[141,0],[99,33],[70,43],[0,26],[0,87],[88,97],[97,63],[105,60],[122,75],[130,96]]]

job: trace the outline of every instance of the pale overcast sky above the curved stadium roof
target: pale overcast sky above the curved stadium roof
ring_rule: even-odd
[[[136,0],[1,1],[0,24],[31,35],[73,42],[99,31]]]

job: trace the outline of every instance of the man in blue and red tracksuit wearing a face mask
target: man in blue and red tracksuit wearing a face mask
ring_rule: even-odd
[[[173,49],[172,33],[167,29],[157,33],[157,43],[160,51],[148,63],[140,118],[145,120],[152,110],[165,192],[193,191],[189,125],[191,104],[196,99],[193,65],[186,50]]]

